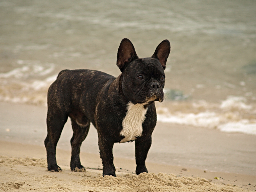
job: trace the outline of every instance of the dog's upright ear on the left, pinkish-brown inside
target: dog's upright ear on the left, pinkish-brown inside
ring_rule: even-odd
[[[124,38],[118,48],[116,65],[123,72],[126,65],[133,60],[138,59],[132,42]]]

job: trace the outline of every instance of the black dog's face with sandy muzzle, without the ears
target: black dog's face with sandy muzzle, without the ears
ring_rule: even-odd
[[[133,60],[123,71],[123,92],[132,103],[164,100],[164,69],[157,59]]]

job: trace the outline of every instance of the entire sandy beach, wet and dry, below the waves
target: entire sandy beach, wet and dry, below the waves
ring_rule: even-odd
[[[81,147],[81,163],[86,172],[70,171],[69,140],[72,129],[67,122],[56,155],[63,171],[56,173],[47,171],[43,146],[47,108],[0,104],[0,190],[256,190],[254,135],[157,123],[146,160],[149,173],[134,175],[134,143],[123,143],[114,145],[113,149],[117,177],[103,178],[97,134],[93,126]],[[188,139],[188,136],[191,138]]]

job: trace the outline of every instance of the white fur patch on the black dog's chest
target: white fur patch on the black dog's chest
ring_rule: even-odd
[[[148,108],[144,108],[144,105],[143,103],[134,105],[132,102],[127,104],[127,113],[122,123],[123,130],[120,132],[124,139],[120,143],[135,140],[136,137],[141,136],[143,131],[142,123],[148,110]]]

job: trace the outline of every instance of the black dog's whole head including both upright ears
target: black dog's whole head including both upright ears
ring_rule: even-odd
[[[164,69],[170,50],[170,42],[164,40],[152,57],[139,58],[129,39],[121,41],[116,65],[122,72],[124,96],[133,104],[164,100]]]

